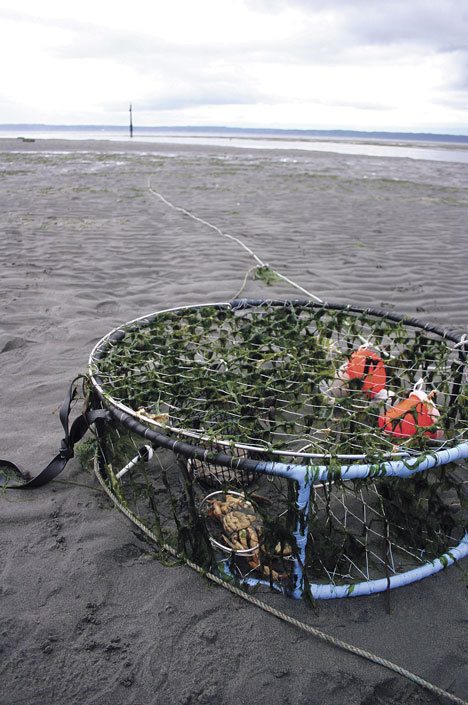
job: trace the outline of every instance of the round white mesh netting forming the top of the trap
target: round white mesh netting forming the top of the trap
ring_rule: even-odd
[[[113,402],[170,434],[296,457],[394,452],[398,436],[379,429],[382,400],[363,393],[362,378],[341,379],[367,348],[396,399],[418,381],[433,394],[443,444],[466,437],[463,356],[404,321],[314,305],[206,306],[121,330],[93,372]],[[440,447],[433,435],[417,429],[398,445]]]

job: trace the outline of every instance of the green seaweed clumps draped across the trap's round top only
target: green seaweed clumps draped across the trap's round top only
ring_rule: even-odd
[[[153,415],[167,413],[169,432],[173,425],[278,449],[294,436],[313,443],[313,432],[327,429],[331,421],[336,429],[332,436],[340,439],[335,449],[327,439],[331,453],[356,452],[353,437],[360,436],[362,447],[363,429],[366,450],[372,452],[372,444],[388,449],[382,436],[371,433],[375,408],[356,403],[356,394],[330,408],[322,391],[349,351],[362,344],[364,331],[374,345],[397,348],[386,360],[389,384],[397,395],[424,377],[427,384],[438,385],[445,400],[452,370],[444,341],[416,333],[410,341],[406,335],[403,346],[401,325],[376,324],[370,317],[366,323],[343,312],[299,315],[288,307],[244,318],[209,308],[163,314],[147,329],[128,331],[123,344],[102,361],[100,375],[112,379],[112,393],[128,406]],[[351,392],[357,390],[358,381],[349,386]],[[453,425],[459,395],[452,401]],[[445,406],[442,413],[448,419]]]

